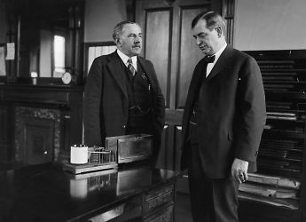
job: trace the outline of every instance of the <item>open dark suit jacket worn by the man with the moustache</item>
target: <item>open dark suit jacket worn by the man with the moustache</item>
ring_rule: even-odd
[[[152,85],[153,130],[161,134],[165,118],[165,99],[153,64],[137,57]],[[83,99],[84,139],[88,146],[104,145],[105,138],[125,134],[128,122],[128,92],[117,52],[96,58],[87,76]]]

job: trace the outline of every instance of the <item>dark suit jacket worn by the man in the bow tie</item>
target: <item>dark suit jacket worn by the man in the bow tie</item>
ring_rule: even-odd
[[[205,62],[195,67],[183,115],[181,168],[190,161],[188,123],[197,83],[205,75]],[[228,45],[203,83],[205,111],[200,116],[200,159],[208,178],[226,178],[235,157],[256,170],[256,155],[266,120],[263,80],[252,57]]]

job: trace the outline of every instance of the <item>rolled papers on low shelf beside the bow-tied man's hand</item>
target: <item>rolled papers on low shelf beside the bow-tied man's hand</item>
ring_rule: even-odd
[[[248,173],[247,182],[239,186],[239,199],[298,210],[300,186],[295,178]]]

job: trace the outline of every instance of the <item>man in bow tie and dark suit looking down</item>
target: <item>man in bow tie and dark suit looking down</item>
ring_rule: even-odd
[[[238,188],[265,124],[263,80],[255,59],[225,42],[217,12],[192,20],[204,58],[193,71],[183,115],[182,170],[188,169],[193,221],[238,221]]]

